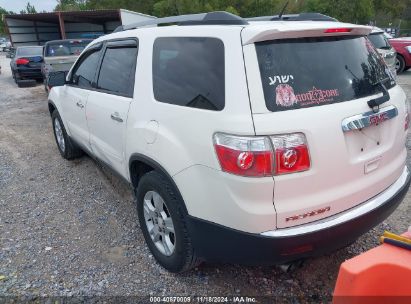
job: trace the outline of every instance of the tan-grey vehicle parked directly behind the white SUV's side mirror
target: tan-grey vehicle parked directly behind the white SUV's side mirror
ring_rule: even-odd
[[[41,67],[44,76],[44,86],[48,91],[48,76],[50,72],[68,72],[84,48],[93,39],[68,39],[49,41],[44,46],[44,62]]]

